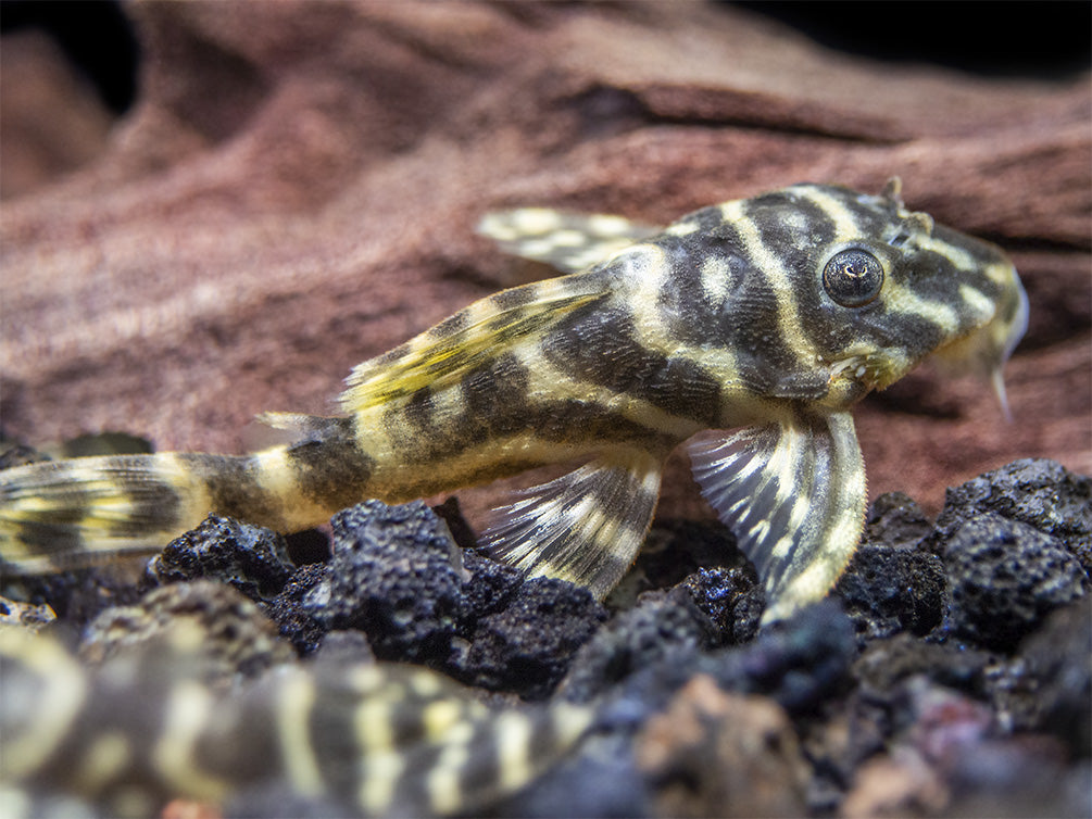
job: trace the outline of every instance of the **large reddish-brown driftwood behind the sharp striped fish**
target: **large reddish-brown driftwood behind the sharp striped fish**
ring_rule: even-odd
[[[258,412],[329,411],[353,365],[513,283],[473,234],[489,209],[666,222],[898,174],[909,204],[1012,250],[1032,319],[1012,425],[988,388],[929,375],[866,401],[873,494],[935,510],[1026,455],[1092,472],[1087,75],[878,63],[698,4],[127,10],[138,104],[97,159],[3,206],[9,435],[238,451]],[[668,479],[662,511],[700,508]]]

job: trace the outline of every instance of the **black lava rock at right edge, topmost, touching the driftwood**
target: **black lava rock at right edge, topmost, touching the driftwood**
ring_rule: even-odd
[[[1025,458],[948,490],[931,543],[981,512],[997,512],[1061,539],[1092,572],[1092,479],[1056,461]]]

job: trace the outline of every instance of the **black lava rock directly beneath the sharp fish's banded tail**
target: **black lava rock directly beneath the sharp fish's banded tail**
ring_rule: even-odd
[[[295,570],[284,538],[261,526],[210,514],[149,561],[149,585],[218,580],[252,601],[275,597]]]

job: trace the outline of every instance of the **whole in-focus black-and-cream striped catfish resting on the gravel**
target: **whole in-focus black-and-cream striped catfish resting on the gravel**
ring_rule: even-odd
[[[482,230],[568,275],[484,298],[359,365],[343,417],[263,416],[296,430],[293,444],[0,473],[7,567],[155,550],[211,511],[295,531],[364,498],[583,462],[499,510],[483,539],[602,597],[687,441],[763,580],[764,620],[781,619],[822,597],[859,541],[852,405],[930,354],[999,373],[1026,325],[1005,253],[907,211],[897,182],[878,195],[796,185],[663,229],[524,209]]]

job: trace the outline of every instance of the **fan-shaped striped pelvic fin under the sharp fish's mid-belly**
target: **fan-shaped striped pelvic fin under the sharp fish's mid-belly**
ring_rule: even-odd
[[[633,562],[660,495],[661,460],[601,458],[521,494],[482,538],[531,575],[562,578],[602,600]]]

